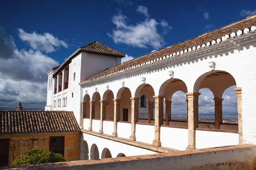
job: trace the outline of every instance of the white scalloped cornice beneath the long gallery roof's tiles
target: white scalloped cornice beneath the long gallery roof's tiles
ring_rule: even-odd
[[[129,68],[125,68],[125,69],[115,71],[113,73],[110,73],[110,74],[107,74],[104,76],[97,77],[95,79],[90,79],[90,80],[87,80],[84,82],[80,82],[79,85],[84,85],[89,82],[94,82],[99,79],[104,79],[106,77],[112,77],[113,75],[120,74],[120,73],[123,73],[126,71],[132,71],[134,69],[138,69],[138,68],[145,67],[148,65],[157,64],[157,63],[160,64],[160,62],[164,63],[164,61],[166,61],[166,60],[171,60],[172,62],[175,62],[177,60],[187,59],[189,57],[183,57],[183,56],[186,56],[186,54],[190,54],[190,57],[194,57],[198,54],[205,54],[207,52],[217,51],[217,50],[219,50],[219,48],[214,48],[216,45],[223,44],[223,48],[227,48],[227,47],[230,47],[231,45],[229,45],[228,43],[225,44],[225,42],[231,42],[231,40],[233,40],[235,38],[241,38],[242,36],[252,34],[255,32],[256,32],[256,26],[252,26],[250,28],[244,28],[243,31],[239,30],[236,33],[232,32],[231,34],[226,34],[222,38],[218,38],[217,40],[212,40],[211,42],[207,42],[206,44],[198,45],[196,47],[194,46],[192,48],[184,49],[182,51],[177,51],[176,53],[173,53],[173,54],[170,54],[167,56],[163,56],[163,57],[160,57],[160,58],[148,61],[148,62],[143,62],[141,64],[131,66]],[[230,41],[228,41],[228,40],[230,40]],[[243,40],[241,40],[241,41],[243,41]],[[236,41],[234,41],[232,43],[235,45],[237,44]],[[206,49],[211,49],[211,50],[207,51]],[[206,50],[206,51],[204,51],[204,50]],[[197,54],[197,52],[198,52],[198,54]],[[191,59],[191,58],[189,58],[189,59]]]

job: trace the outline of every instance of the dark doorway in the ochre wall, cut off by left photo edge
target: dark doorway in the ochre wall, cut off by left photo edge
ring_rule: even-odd
[[[8,165],[9,140],[10,139],[0,139],[0,166]]]

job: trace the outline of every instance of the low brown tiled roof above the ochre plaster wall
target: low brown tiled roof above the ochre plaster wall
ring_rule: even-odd
[[[0,111],[0,135],[80,132],[73,112]]]

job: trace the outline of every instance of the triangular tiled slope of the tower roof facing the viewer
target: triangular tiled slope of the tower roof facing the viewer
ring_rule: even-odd
[[[98,54],[107,54],[107,55],[113,55],[116,57],[124,57],[125,54],[108,47],[107,45],[104,45],[98,41],[90,42],[87,45],[84,45],[80,48],[83,51],[91,52],[91,53],[98,53]]]

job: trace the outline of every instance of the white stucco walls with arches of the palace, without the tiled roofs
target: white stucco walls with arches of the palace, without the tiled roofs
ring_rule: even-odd
[[[73,111],[81,128],[86,130],[97,133],[103,130],[104,134],[148,144],[158,140],[158,146],[177,150],[186,150],[188,145],[191,145],[191,141],[194,144],[193,147],[196,148],[239,143],[256,144],[254,133],[256,130],[256,106],[254,105],[256,101],[256,69],[254,66],[256,27],[247,29],[224,35],[222,39],[213,40],[207,44],[159,56],[158,59],[137,63],[137,65],[116,70],[107,75],[99,75],[88,81],[84,80],[120,64],[121,58],[81,52],[68,65],[68,88],[54,94],[54,91],[48,87],[45,109]],[[52,81],[54,85],[54,79],[50,78],[53,74],[54,71],[48,72],[49,81]],[[74,75],[76,75],[75,79]],[[154,98],[160,99],[161,96],[165,102],[170,102],[172,94],[176,91],[183,91],[189,98],[189,95],[200,95],[198,92],[201,88],[209,88],[217,101],[217,99],[222,99],[223,92],[233,85],[237,87],[238,96],[241,93],[241,98],[238,99],[238,125],[223,125],[221,122],[215,130],[211,129],[217,125],[203,125],[203,123],[193,125],[198,124],[194,121],[198,119],[196,117],[198,116],[198,101],[194,98],[193,101],[188,99],[187,109],[191,117],[185,123],[176,122],[174,125],[172,122],[166,124],[161,122],[159,117],[163,115],[161,105],[165,107],[164,103],[157,104],[153,108],[152,114],[156,113],[157,116],[154,115],[154,120],[151,122],[150,120],[143,122],[140,117],[138,119],[134,116],[137,114],[137,107],[139,113],[150,115],[148,105],[140,108],[139,105],[132,104],[142,95],[146,96],[146,102],[153,103]],[[66,96],[67,105],[65,106],[62,104],[62,99]],[[54,101],[58,99],[61,99],[61,105],[55,107]],[[104,104],[105,111],[101,107],[102,101],[107,102]],[[217,119],[216,113],[220,111],[219,109],[215,108],[215,119]],[[104,119],[101,117],[103,112],[106,114]],[[222,108],[220,112],[222,114]],[[119,115],[116,116],[118,113]],[[207,126],[208,130],[202,130]],[[89,151],[90,148],[94,149],[93,144],[96,144],[99,154],[106,147],[110,150],[112,157],[116,157],[119,153],[124,153],[126,156],[154,153],[87,133],[82,134],[81,144],[84,144],[84,141]],[[81,154],[83,155],[84,152],[82,151]],[[100,155],[99,158],[101,158]]]

